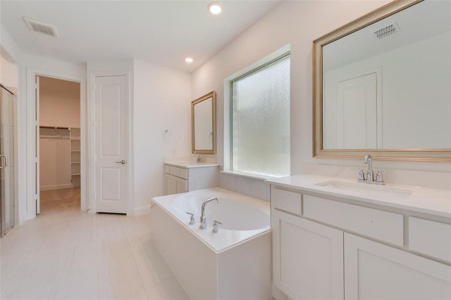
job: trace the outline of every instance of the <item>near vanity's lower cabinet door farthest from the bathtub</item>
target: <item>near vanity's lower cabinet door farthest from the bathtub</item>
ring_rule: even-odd
[[[451,265],[344,234],[346,299],[451,299]]]

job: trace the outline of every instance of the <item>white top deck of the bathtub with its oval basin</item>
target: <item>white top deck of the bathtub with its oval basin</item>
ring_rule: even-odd
[[[200,205],[212,196],[219,204],[205,206],[207,228],[200,229]],[[219,187],[155,197],[153,201],[216,253],[271,230],[269,202]],[[186,212],[194,213],[195,224],[189,224]],[[211,232],[214,220],[222,223],[217,233]]]

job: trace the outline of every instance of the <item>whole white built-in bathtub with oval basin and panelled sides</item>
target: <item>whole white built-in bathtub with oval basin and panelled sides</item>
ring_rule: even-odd
[[[200,206],[210,197],[219,203],[206,204],[207,228],[200,229]],[[192,300],[271,299],[269,202],[222,188],[152,200],[152,241]],[[222,223],[217,233],[213,220]]]

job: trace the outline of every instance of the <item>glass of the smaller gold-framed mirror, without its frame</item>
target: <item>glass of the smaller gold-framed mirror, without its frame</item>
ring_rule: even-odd
[[[213,149],[212,98],[194,105],[194,147],[201,150]]]

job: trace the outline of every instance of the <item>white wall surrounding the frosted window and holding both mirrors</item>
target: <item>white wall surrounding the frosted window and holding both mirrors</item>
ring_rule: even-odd
[[[195,99],[212,89],[217,91],[220,161],[223,161],[224,78],[290,43],[291,173],[313,172],[315,169],[327,173],[330,165],[363,166],[360,160],[313,158],[312,41],[387,2],[284,1],[197,68],[192,73],[191,98]],[[447,163],[375,161],[374,164],[376,167],[391,169],[449,172]],[[448,176],[446,180],[451,182],[451,177]]]

